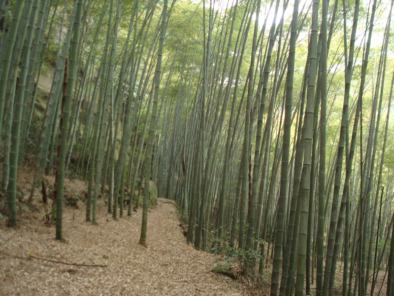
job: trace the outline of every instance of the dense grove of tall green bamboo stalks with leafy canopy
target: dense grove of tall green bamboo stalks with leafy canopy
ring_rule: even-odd
[[[17,226],[17,174],[31,165],[25,202],[56,175],[57,239],[64,179],[77,177],[87,222],[99,202],[118,219],[143,200],[149,244],[153,182],[189,243],[238,254],[271,296],[393,296],[392,9],[0,1],[1,212]]]

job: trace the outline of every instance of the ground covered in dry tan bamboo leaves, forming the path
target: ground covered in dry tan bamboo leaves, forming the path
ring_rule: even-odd
[[[21,176],[27,185],[21,190],[24,199],[31,176]],[[47,181],[53,184],[54,179]],[[66,180],[65,194],[82,196],[86,186]],[[85,222],[84,203],[66,207],[66,242],[60,242],[55,240],[54,223],[43,221],[52,201],[44,205],[40,191],[36,189],[33,207],[19,205],[16,229],[6,227],[4,217],[0,219],[0,295],[266,294],[250,281],[211,272],[219,258],[186,243],[170,200],[159,198],[149,210],[147,247],[138,244],[142,210],[114,221],[102,200],[98,225]]]

